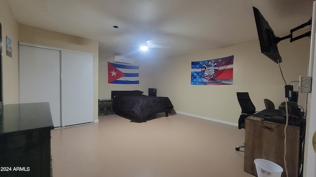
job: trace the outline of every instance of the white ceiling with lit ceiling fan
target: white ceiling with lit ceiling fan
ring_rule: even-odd
[[[99,52],[165,58],[258,39],[252,6],[276,36],[312,17],[313,0],[7,0],[20,24],[99,41]],[[113,28],[118,26],[118,29]],[[135,45],[155,39],[170,49]]]

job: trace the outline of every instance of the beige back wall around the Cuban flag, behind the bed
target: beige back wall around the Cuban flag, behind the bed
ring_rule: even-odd
[[[154,87],[152,62],[149,60],[135,59],[139,66],[139,84],[108,84],[108,61],[113,62],[114,54],[99,53],[99,99],[111,98],[112,90],[141,90],[148,95],[148,88]]]

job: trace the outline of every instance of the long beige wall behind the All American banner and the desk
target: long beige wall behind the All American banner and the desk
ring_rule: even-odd
[[[299,75],[307,75],[309,42],[309,38],[303,38],[278,44],[283,59],[280,65],[287,84],[298,81]],[[231,55],[235,56],[233,85],[191,85],[191,61]],[[175,57],[156,63],[156,66],[154,86],[158,96],[168,96],[180,113],[237,125],[241,112],[237,91],[249,92],[257,111],[265,109],[264,98],[272,100],[276,106],[285,101],[285,84],[279,66],[261,54],[257,40]],[[298,90],[297,87],[294,89]],[[303,107],[305,96],[299,96],[299,104]]]

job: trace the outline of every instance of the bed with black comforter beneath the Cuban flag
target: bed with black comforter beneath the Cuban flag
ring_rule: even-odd
[[[130,115],[129,119],[136,122],[144,122],[152,119],[151,116],[165,112],[165,116],[171,113],[173,105],[168,97],[147,96],[143,91],[112,91],[114,100],[113,109],[119,116]],[[124,117],[124,116],[123,116]]]

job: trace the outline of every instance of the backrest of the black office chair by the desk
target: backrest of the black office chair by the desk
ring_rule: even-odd
[[[256,107],[253,105],[248,92],[237,92],[237,99],[241,107],[241,113],[252,115],[256,112]]]

